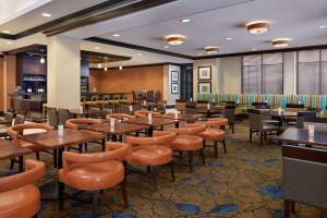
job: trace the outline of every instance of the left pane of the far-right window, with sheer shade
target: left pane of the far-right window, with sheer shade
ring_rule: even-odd
[[[298,94],[320,93],[320,50],[298,52]]]

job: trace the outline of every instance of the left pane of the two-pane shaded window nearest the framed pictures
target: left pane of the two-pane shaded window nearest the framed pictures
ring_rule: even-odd
[[[243,57],[243,94],[262,93],[262,56]]]

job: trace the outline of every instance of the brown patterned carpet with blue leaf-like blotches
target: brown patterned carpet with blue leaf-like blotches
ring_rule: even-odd
[[[117,186],[101,193],[97,207],[66,199],[64,210],[59,211],[56,202],[43,202],[40,217],[282,217],[280,147],[269,142],[264,146],[250,144],[245,122],[237,123],[235,134],[229,132],[227,143],[228,154],[223,154],[220,147],[218,159],[213,158],[213,148],[206,148],[205,166],[196,155],[193,173],[177,160],[175,182],[171,182],[169,168],[160,167],[158,192],[155,193],[147,178],[129,174],[130,207],[126,209]],[[50,156],[46,159],[48,169],[51,169]],[[4,170],[8,166],[8,162],[1,165],[2,174],[12,173]],[[48,170],[45,181],[56,180],[56,170]],[[81,193],[77,198],[90,199],[90,193]],[[299,218],[327,218],[326,210],[311,206],[299,205],[296,211]]]

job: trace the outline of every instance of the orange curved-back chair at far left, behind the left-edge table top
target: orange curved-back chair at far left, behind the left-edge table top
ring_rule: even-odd
[[[43,147],[34,145],[32,143],[22,141],[19,138],[20,134],[23,134],[24,130],[44,130],[44,131],[51,131],[55,130],[51,125],[43,124],[43,123],[26,123],[26,124],[19,124],[13,125],[7,130],[8,134],[12,137],[13,142],[22,147],[27,147],[36,152],[36,159],[39,160],[39,152],[50,153]],[[52,153],[53,156],[53,165],[55,168],[57,167],[57,150],[55,149]],[[11,161],[11,168],[13,167],[14,161]]]

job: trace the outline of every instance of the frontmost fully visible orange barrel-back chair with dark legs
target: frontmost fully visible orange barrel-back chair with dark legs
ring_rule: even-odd
[[[106,152],[93,154],[62,154],[63,168],[59,170],[59,208],[63,209],[64,186],[99,191],[121,183],[123,201],[128,207],[125,170],[119,159],[130,150],[125,143],[106,143]]]

